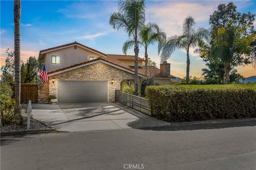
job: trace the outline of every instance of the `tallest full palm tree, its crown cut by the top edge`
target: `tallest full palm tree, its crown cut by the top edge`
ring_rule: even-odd
[[[119,0],[119,12],[111,14],[109,20],[109,24],[115,30],[124,30],[130,38],[134,39],[134,93],[136,96],[138,96],[138,30],[145,23],[145,5],[144,0]]]

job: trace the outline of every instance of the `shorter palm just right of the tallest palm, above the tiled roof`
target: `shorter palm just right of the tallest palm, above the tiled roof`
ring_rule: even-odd
[[[156,23],[148,23],[139,30],[138,44],[145,48],[145,75],[148,75],[148,46],[158,42],[158,55],[166,42],[166,33]],[[134,45],[134,40],[127,40],[123,45],[123,52]]]

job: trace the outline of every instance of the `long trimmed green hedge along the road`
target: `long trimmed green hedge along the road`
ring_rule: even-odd
[[[256,117],[256,83],[148,86],[152,115],[169,122]]]

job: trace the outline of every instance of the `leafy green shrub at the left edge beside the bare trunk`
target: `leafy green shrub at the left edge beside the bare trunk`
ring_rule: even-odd
[[[2,125],[10,125],[12,123],[20,124],[22,117],[20,116],[20,106],[16,105],[15,99],[12,98],[13,91],[10,85],[1,83],[0,85],[0,109]]]

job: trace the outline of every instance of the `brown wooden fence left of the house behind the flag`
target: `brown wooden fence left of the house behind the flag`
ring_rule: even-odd
[[[15,91],[14,85],[12,86],[12,91]],[[20,89],[20,103],[28,103],[31,100],[31,103],[37,103],[37,85],[30,84],[21,84]]]

